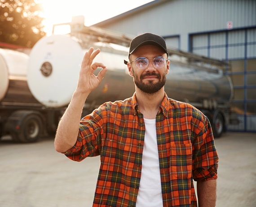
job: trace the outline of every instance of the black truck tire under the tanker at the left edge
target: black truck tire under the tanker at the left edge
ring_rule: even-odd
[[[43,124],[40,116],[36,114],[27,115],[20,126],[19,134],[14,135],[15,140],[20,142],[37,142],[42,134]],[[18,135],[18,138],[15,136]]]

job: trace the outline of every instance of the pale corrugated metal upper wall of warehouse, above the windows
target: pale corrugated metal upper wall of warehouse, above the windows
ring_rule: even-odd
[[[104,21],[97,26],[141,34],[179,35],[182,50],[188,50],[188,34],[256,25],[256,0],[158,0]]]

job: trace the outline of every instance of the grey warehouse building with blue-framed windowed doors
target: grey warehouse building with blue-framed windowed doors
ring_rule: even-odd
[[[169,47],[229,62],[240,121],[229,130],[256,132],[256,0],[154,0],[94,26],[152,32]]]

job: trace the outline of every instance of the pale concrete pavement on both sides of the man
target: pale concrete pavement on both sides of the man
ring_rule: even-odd
[[[228,132],[220,156],[216,207],[256,207],[256,134]],[[54,150],[53,138],[0,141],[0,207],[91,207],[99,157],[80,163]]]

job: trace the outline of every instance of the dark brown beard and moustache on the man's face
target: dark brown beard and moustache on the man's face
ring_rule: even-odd
[[[163,74],[163,78],[161,78],[161,75],[159,73],[150,73],[150,72],[145,73],[139,77],[133,69],[132,71],[133,71],[133,82],[141,91],[147,94],[154,94],[165,85],[166,73]],[[159,81],[156,83],[154,83],[153,80],[148,81],[147,83],[142,82],[144,77],[151,76],[151,75],[156,76],[159,79]]]

